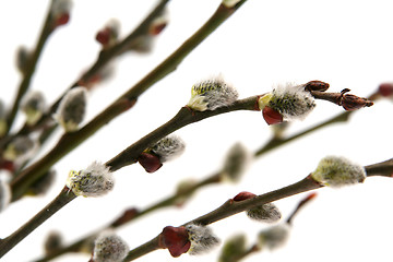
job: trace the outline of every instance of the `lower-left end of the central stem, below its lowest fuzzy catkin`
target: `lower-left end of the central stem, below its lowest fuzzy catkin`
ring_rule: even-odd
[[[34,231],[38,226],[51,217],[56,212],[61,210],[76,195],[64,187],[61,192],[56,196],[48,205],[46,205],[40,212],[38,212],[32,219],[26,224],[21,226],[16,231],[11,234],[5,239],[0,241],[0,258],[8,253],[12,248],[14,248],[20,241],[22,241],[26,236]]]

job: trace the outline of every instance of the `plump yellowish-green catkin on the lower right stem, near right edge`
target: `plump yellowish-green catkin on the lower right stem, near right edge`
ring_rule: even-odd
[[[320,160],[311,177],[323,186],[338,188],[364,182],[366,170],[344,157],[326,156]]]

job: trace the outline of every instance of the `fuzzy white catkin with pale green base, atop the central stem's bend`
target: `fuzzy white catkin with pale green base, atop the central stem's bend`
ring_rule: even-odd
[[[214,110],[234,104],[237,98],[237,91],[217,78],[193,85],[187,106],[196,111]]]

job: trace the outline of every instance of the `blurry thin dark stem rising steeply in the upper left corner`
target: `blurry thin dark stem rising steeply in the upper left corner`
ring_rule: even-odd
[[[50,5],[52,3],[50,3]],[[26,64],[27,67],[26,67],[26,70],[24,71],[23,80],[19,86],[16,97],[13,102],[11,111],[9,112],[8,118],[7,118],[7,132],[4,133],[4,135],[7,135],[12,128],[16,112],[20,108],[22,97],[28,90],[31,80],[33,78],[33,74],[34,74],[36,66],[37,66],[37,61],[41,55],[41,51],[44,49],[44,46],[45,46],[47,39],[49,38],[49,35],[52,33],[52,23],[51,23],[52,15],[51,15],[50,9],[51,8],[49,7],[45,22],[44,22],[44,26],[39,34],[34,52],[29,56],[29,58],[27,60],[27,64]]]

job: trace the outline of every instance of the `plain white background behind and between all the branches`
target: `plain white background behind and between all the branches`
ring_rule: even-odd
[[[34,47],[49,1],[0,2],[1,98],[10,105],[21,75],[14,67],[20,45]],[[43,91],[50,103],[95,61],[99,45],[96,32],[112,17],[121,22],[126,36],[154,7],[155,1],[75,1],[71,21],[49,38],[32,90]],[[170,23],[148,56],[128,53],[116,62],[112,80],[90,95],[88,116],[130,88],[187,39],[215,11],[219,0],[172,0]],[[389,0],[249,0],[212,36],[203,41],[178,69],[146,93],[135,107],[121,115],[59,162],[56,184],[43,198],[24,199],[0,215],[0,237],[5,237],[38,212],[62,188],[70,169],[82,169],[93,160],[106,162],[128,145],[169,120],[190,96],[195,81],[222,73],[240,97],[262,94],[274,84],[321,80],[332,92],[350,88],[367,96],[380,83],[393,80],[393,16]],[[315,110],[289,133],[341,112],[342,108],[318,102]],[[392,105],[377,103],[350,118],[300,139],[258,158],[241,183],[209,187],[183,209],[167,209],[122,227],[119,235],[131,248],[155,237],[167,225],[180,225],[216,209],[240,191],[264,193],[298,181],[326,155],[343,155],[361,165],[392,157]],[[20,116],[15,128],[23,122]],[[56,134],[58,138],[59,131]],[[111,193],[99,199],[74,200],[7,254],[2,261],[32,261],[43,253],[48,231],[60,230],[67,242],[105,225],[126,206],[143,209],[172,193],[184,178],[202,179],[219,169],[227,148],[241,141],[250,151],[271,135],[261,112],[240,111],[204,120],[177,132],[187,143],[186,153],[155,174],[133,165],[116,172]],[[56,141],[53,138],[53,142]],[[48,146],[46,150],[50,148]],[[393,181],[370,178],[365,184],[341,190],[322,189],[319,196],[294,221],[287,246],[264,251],[245,261],[391,261],[393,236]],[[284,217],[303,195],[276,202]],[[265,225],[238,214],[212,225],[225,240],[245,231],[249,242]],[[216,261],[217,250],[203,257],[183,254],[171,259],[167,250],[140,261]],[[62,257],[56,261],[87,261],[88,255]]]

